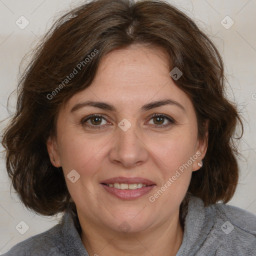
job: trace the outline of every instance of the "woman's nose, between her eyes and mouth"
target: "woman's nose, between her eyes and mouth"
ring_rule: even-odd
[[[112,148],[109,152],[109,160],[112,163],[132,168],[146,162],[149,156],[148,148],[135,125],[123,131],[117,127]]]

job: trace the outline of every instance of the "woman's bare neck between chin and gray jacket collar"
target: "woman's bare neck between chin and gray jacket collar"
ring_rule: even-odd
[[[121,233],[93,225],[81,217],[79,222],[82,230],[81,240],[90,256],[174,256],[183,238],[178,212],[157,227],[133,233]]]

